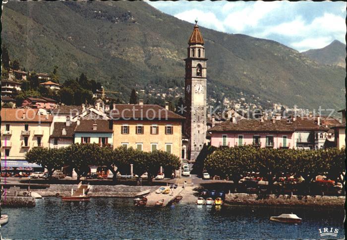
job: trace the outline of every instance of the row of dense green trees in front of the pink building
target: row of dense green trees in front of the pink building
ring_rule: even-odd
[[[295,150],[238,146],[209,149],[204,168],[212,176],[229,177],[236,185],[247,173],[260,173],[269,181],[271,190],[273,179],[288,175],[302,176],[306,184],[318,175],[342,182],[345,158],[345,149],[338,148]]]

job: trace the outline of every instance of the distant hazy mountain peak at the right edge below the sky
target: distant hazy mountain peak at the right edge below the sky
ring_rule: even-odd
[[[311,49],[302,54],[321,64],[346,67],[346,45],[338,40],[324,48]]]

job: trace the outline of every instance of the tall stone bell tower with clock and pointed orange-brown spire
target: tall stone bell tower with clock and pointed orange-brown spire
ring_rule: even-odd
[[[189,159],[199,155],[206,140],[206,61],[204,40],[197,20],[188,41],[185,60],[185,134],[189,138]]]

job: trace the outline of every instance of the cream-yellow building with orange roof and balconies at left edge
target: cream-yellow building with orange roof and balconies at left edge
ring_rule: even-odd
[[[52,120],[38,109],[1,109],[1,166],[6,160],[7,167],[28,167],[30,149],[49,147]]]

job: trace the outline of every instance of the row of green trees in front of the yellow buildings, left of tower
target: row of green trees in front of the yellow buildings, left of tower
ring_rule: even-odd
[[[149,180],[158,173],[160,167],[173,171],[180,166],[178,157],[164,151],[143,152],[126,147],[112,149],[110,146],[100,147],[96,143],[77,143],[62,148],[33,148],[26,154],[26,161],[45,167],[49,176],[62,167],[74,169],[78,180],[89,173],[88,166],[107,166],[113,173],[114,181],[118,172],[129,172],[130,164],[133,164],[134,174],[140,176],[147,172]]]

